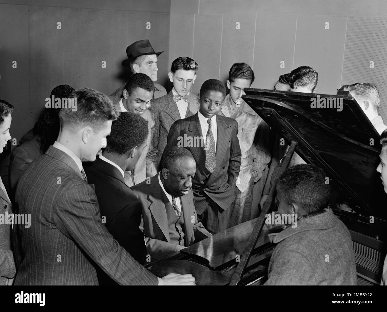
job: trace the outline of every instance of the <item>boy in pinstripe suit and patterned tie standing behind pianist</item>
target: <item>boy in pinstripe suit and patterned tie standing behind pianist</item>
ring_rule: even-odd
[[[241,164],[238,122],[217,115],[225,96],[226,87],[221,81],[205,81],[198,95],[199,112],[171,126],[165,148],[185,147],[194,155],[196,175],[192,179],[192,190],[195,210],[198,221],[211,234],[229,227]],[[205,142],[205,146],[192,146],[188,142],[190,138],[195,141],[202,138],[199,142]]]

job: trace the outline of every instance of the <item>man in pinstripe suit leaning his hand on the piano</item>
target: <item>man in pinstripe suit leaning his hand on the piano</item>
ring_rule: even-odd
[[[31,163],[16,188],[21,213],[31,227],[21,227],[25,253],[16,285],[96,285],[98,265],[118,284],[193,284],[192,276],[159,279],[136,262],[108,232],[97,197],[81,160],[94,161],[106,146],[115,109],[106,95],[75,90],[77,108],[62,108],[60,133],[47,152]]]

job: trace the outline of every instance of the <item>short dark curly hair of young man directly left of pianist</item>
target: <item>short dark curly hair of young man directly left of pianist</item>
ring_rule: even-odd
[[[123,155],[131,148],[142,145],[148,136],[148,122],[140,115],[122,112],[111,124],[110,135],[106,137],[108,153]]]

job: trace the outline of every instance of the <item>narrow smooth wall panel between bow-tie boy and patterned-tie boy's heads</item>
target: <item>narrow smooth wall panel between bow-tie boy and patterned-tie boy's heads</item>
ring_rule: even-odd
[[[194,60],[199,64],[194,94],[207,79],[219,79],[222,14],[195,14]]]

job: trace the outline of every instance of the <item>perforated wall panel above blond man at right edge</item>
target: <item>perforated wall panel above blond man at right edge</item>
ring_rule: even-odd
[[[375,83],[387,123],[387,18],[348,17],[341,84]]]

